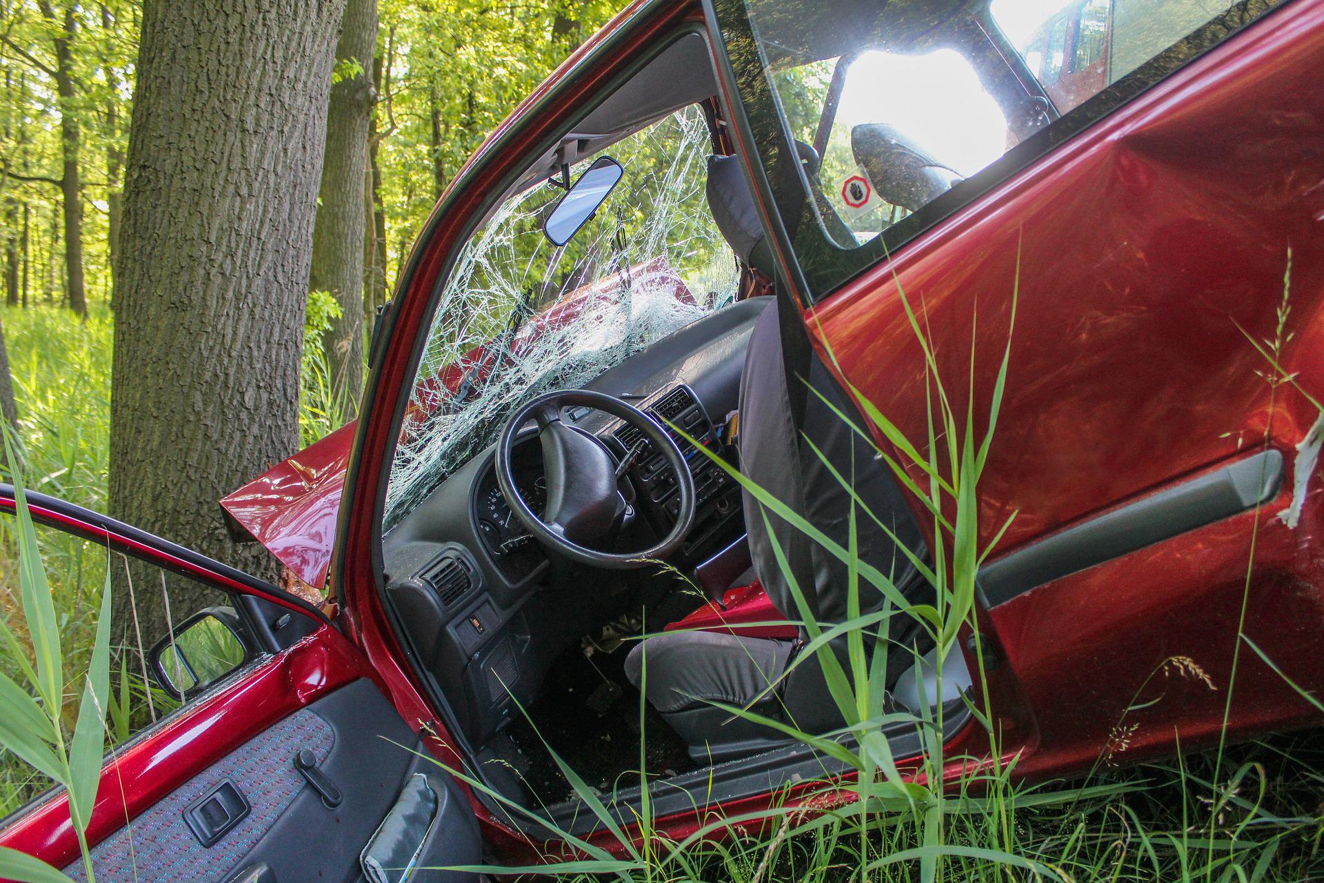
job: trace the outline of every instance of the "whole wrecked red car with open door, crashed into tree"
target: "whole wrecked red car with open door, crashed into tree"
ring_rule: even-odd
[[[768,624],[796,613],[788,573],[843,620],[842,568],[695,443],[833,537],[828,463],[853,465],[886,516],[862,559],[923,602],[933,519],[831,413],[873,428],[867,400],[927,437],[900,289],[976,413],[1018,291],[981,548],[1016,518],[978,575],[986,678],[961,641],[940,686],[898,666],[892,702],[941,703],[947,756],[986,753],[965,695],[1030,778],[1213,744],[1225,710],[1231,739],[1317,724],[1264,658],[1324,688],[1320,82],[1324,0],[629,7],[442,196],[359,422],[226,498],[330,604],[32,495],[232,594],[197,622],[237,665],[185,658],[179,684],[152,654],[185,702],[103,772],[98,879],[540,860],[547,829],[508,805],[609,845],[543,739],[629,826],[641,708],[671,837],[833,774],[712,702],[841,725],[801,630]],[[894,441],[871,440],[904,463]],[[914,727],[884,735],[912,768]],[[0,845],[70,866],[65,797]]]

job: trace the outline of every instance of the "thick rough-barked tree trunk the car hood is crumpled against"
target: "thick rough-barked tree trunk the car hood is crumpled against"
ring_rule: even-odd
[[[245,571],[217,499],[298,446],[299,357],[344,0],[147,0],[111,373],[110,511]],[[159,579],[159,577],[156,577]],[[140,580],[135,584],[143,585]],[[114,627],[130,622],[115,594]],[[201,601],[175,586],[172,614]],[[163,629],[138,592],[143,641]]]

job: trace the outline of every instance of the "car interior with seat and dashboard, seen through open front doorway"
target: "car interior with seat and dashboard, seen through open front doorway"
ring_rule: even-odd
[[[842,727],[818,662],[792,662],[796,621],[847,618],[846,565],[723,462],[843,547],[849,477],[874,516],[862,560],[907,598],[928,590],[894,477],[835,413],[854,412],[773,294],[716,95],[706,37],[686,33],[498,195],[437,293],[393,454],[381,560],[397,633],[474,772],[552,815],[576,804],[552,752],[617,804],[646,782],[688,805],[700,782],[716,798],[822,774],[824,757],[714,703]],[[568,244],[548,241],[540,225],[604,156],[616,189]],[[775,610],[757,627],[691,625],[763,592]],[[959,723],[960,654],[941,690],[907,691],[924,635],[888,622],[892,700],[952,703]]]

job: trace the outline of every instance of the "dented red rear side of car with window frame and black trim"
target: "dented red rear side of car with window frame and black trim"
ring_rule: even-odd
[[[1110,85],[1074,110],[1055,109],[1017,61],[998,20],[1016,4],[933,4],[947,21],[923,28],[900,8],[876,13],[874,30],[854,32],[886,46],[875,70],[931,61],[941,45],[977,73],[952,74],[925,110],[961,82],[1010,83],[1014,98],[998,97],[1008,128],[988,165],[957,169],[976,138],[970,113],[944,167],[955,185],[923,204],[895,200],[882,233],[876,217],[843,213],[859,240],[850,246],[816,214],[835,199],[830,180],[822,203],[785,184],[801,183],[785,167],[789,132],[812,132],[817,110],[809,124],[788,120],[775,98],[784,68],[859,48],[821,8],[793,5],[712,0],[710,11],[743,101],[736,132],[825,360],[830,348],[842,380],[923,440],[928,380],[900,291],[923,315],[951,400],[964,408],[973,392],[986,414],[1018,287],[981,544],[1014,519],[981,572],[978,616],[1002,663],[988,700],[1006,716],[1005,744],[1026,747],[1018,769],[1087,769],[1100,755],[1170,752],[1174,737],[1210,744],[1225,715],[1230,739],[1316,720],[1260,654],[1324,688],[1324,3],[1084,4],[1104,7],[1096,20],[1112,29],[1100,44]],[[977,21],[957,23],[967,15]],[[932,36],[948,23],[977,29]],[[1173,33],[1149,45],[1164,28]],[[776,65],[763,66],[764,50]],[[878,82],[875,94],[931,86]],[[870,159],[857,147],[842,173],[866,173]]]

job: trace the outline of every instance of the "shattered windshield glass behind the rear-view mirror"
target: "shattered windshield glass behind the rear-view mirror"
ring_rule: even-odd
[[[551,184],[511,196],[469,240],[414,380],[387,530],[493,443],[519,404],[583,387],[735,299],[739,269],[704,195],[710,154],[703,113],[685,109],[605,151],[625,175],[561,249],[542,232],[564,193]]]

